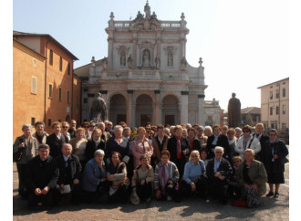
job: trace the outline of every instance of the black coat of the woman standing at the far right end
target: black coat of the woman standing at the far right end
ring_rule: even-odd
[[[272,163],[272,148],[274,147],[274,153],[278,155],[278,159],[275,160],[275,171],[270,171]],[[278,139],[275,140],[275,143],[271,143],[270,140],[266,141],[262,146],[262,162],[265,165],[265,171],[267,174],[270,173],[283,173],[285,171],[286,155],[288,154],[287,147],[285,142]]]

